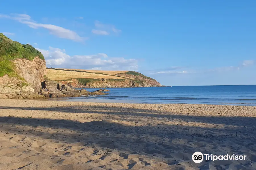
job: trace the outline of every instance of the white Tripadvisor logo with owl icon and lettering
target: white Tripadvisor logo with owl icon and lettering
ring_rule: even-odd
[[[216,161],[216,160],[245,160],[246,155],[212,155],[212,154],[202,154],[201,152],[195,152],[192,155],[192,160],[195,163],[201,163],[204,160]]]

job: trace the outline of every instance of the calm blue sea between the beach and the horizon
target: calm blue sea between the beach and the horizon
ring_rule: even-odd
[[[99,88],[84,88],[89,92]],[[106,103],[188,103],[256,106],[256,85],[241,86],[164,86],[106,88],[108,95],[88,95],[48,100]]]

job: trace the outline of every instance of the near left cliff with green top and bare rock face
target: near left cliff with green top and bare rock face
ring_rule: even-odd
[[[38,92],[45,75],[41,52],[0,33],[0,98],[42,98]]]

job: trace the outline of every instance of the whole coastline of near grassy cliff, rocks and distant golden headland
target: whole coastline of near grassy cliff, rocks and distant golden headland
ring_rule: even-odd
[[[73,88],[152,86],[161,84],[135,71],[46,69],[41,52],[0,33],[0,98],[79,97],[81,92]],[[83,94],[106,93],[83,91]]]

